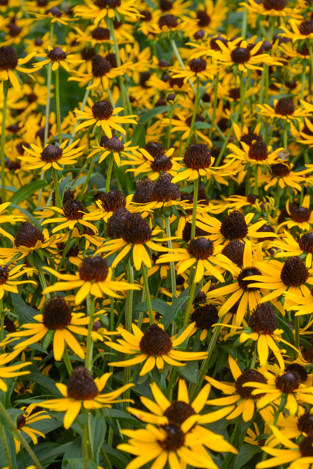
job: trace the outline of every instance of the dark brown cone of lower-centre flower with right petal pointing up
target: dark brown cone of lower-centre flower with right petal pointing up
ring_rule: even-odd
[[[156,357],[167,355],[172,346],[171,337],[156,324],[147,328],[139,343],[143,354]]]

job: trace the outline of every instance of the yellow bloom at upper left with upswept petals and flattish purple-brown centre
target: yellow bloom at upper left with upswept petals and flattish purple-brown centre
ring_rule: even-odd
[[[31,144],[29,147],[24,147],[24,150],[29,155],[18,156],[22,161],[26,161],[28,164],[25,169],[38,169],[42,168],[43,171],[53,167],[62,171],[64,168],[60,166],[74,164],[77,162],[77,158],[83,154],[83,148],[85,145],[78,146],[79,139],[67,145],[69,140],[65,140],[60,146],[47,144],[44,148],[35,144]]]

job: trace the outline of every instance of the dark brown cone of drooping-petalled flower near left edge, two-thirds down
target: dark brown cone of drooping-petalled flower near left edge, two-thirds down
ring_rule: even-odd
[[[42,312],[42,322],[49,330],[65,329],[71,319],[71,308],[61,297],[51,298]]]

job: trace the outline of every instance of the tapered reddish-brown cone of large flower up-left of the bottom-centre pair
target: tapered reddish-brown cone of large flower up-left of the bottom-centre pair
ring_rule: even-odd
[[[87,368],[83,366],[74,368],[67,384],[67,395],[75,400],[89,400],[98,393],[98,388]]]

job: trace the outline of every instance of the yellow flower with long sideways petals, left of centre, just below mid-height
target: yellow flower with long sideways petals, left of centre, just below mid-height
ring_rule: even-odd
[[[75,295],[75,305],[81,304],[89,294],[96,298],[102,298],[104,295],[121,298],[117,291],[140,289],[139,286],[132,283],[112,280],[112,269],[108,267],[105,259],[98,256],[85,257],[75,275],[60,274],[49,267],[44,267],[43,269],[63,280],[45,288],[43,295],[51,291],[65,291],[79,288]]]

